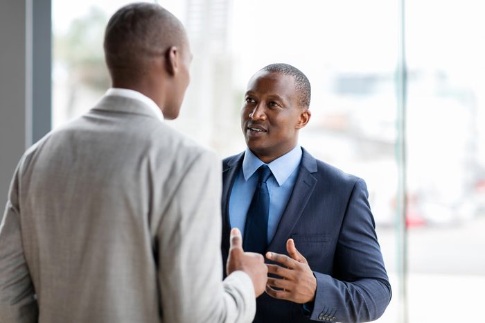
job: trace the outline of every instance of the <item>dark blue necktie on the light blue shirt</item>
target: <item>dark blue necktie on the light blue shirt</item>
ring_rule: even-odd
[[[258,184],[254,191],[244,227],[244,251],[264,254],[267,247],[267,218],[270,213],[270,193],[266,181],[271,176],[268,166],[258,168]]]

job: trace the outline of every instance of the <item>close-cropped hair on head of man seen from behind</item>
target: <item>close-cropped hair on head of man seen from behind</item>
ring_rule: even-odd
[[[109,19],[105,31],[105,59],[112,78],[139,78],[153,60],[188,41],[182,23],[155,3],[131,3]]]

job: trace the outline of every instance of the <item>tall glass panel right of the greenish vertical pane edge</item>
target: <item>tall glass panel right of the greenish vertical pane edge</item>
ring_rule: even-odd
[[[407,0],[409,321],[482,317],[485,21],[480,1]],[[454,314],[452,314],[454,315]]]

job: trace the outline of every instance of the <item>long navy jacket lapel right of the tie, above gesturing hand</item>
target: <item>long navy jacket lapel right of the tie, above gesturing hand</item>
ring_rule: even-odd
[[[268,245],[268,250],[270,251],[283,252],[285,250],[286,240],[290,237],[294,225],[297,224],[301,217],[303,209],[308,204],[308,200],[310,200],[317,184],[317,179],[312,175],[312,173],[317,172],[317,160],[305,149],[301,149],[303,150],[303,155],[301,156],[297,181],[294,183],[290,200],[286,205],[285,211],[283,211],[274,237],[270,245]]]

